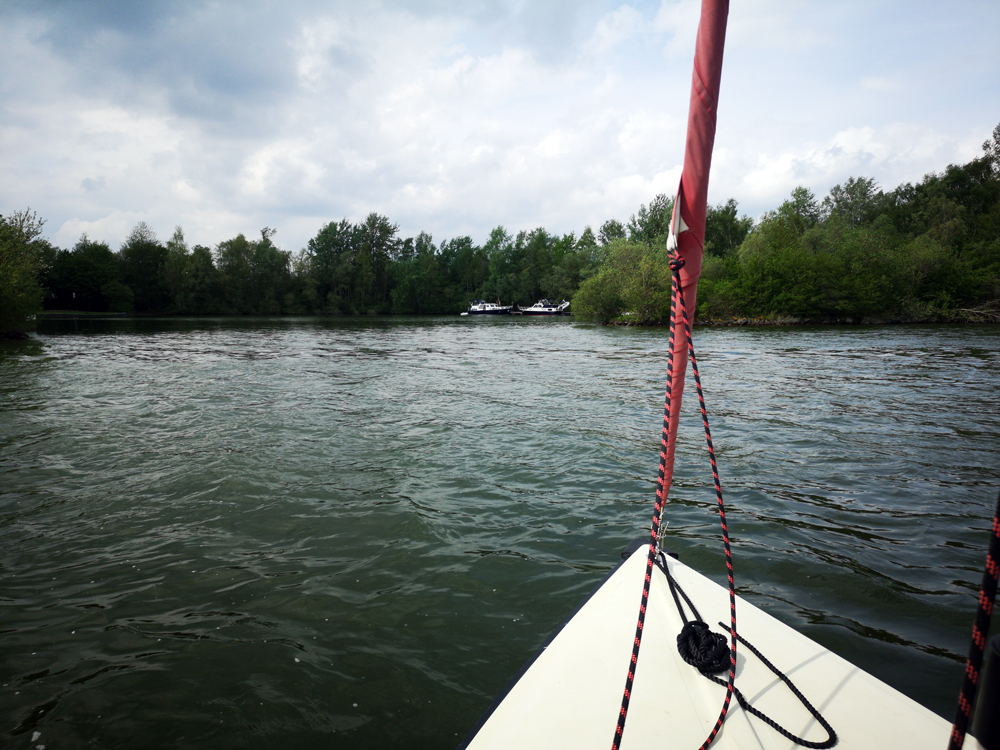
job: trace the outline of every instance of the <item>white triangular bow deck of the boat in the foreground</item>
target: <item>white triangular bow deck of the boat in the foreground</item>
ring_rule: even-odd
[[[611,746],[647,550],[643,545],[633,552],[539,650],[461,747]],[[721,632],[717,623],[728,619],[728,591],[677,560],[668,558],[668,565],[705,621]],[[742,598],[737,612],[740,635],[783,671],[833,726],[837,748],[947,746],[949,722]],[[676,639],[682,626],[666,576],[654,569],[623,750],[697,750],[715,724],[726,690],[681,659]],[[737,652],[736,686],[752,706],[793,734],[814,742],[826,739],[825,730],[785,684],[746,648]],[[800,746],[745,712],[734,699],[712,747]],[[981,745],[970,736],[966,747]]]

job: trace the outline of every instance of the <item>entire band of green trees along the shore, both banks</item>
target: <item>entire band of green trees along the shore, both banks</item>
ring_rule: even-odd
[[[1000,320],[1000,125],[984,153],[883,191],[857,177],[818,200],[798,187],[760,220],[730,199],[709,206],[700,319]],[[482,245],[402,238],[377,213],[324,225],[305,248],[275,230],[189,246],[140,222],[117,250],[83,235],[42,237],[30,210],[0,216],[0,333],[41,309],[151,315],[453,314],[469,300],[572,300],[585,320],[669,318],[665,240],[673,201],[656,196],[595,233],[516,234]],[[978,317],[977,317],[978,316]]]

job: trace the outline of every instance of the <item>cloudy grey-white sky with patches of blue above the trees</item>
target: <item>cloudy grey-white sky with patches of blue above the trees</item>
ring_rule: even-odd
[[[0,213],[117,248],[377,211],[403,236],[626,221],[680,177],[700,0],[0,2]],[[1000,122],[997,0],[733,0],[709,190],[884,188]]]

